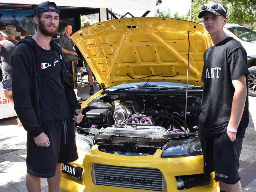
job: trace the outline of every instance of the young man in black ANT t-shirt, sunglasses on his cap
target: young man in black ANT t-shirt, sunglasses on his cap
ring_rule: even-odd
[[[201,76],[199,137],[204,174],[215,171],[221,192],[241,192],[239,157],[249,123],[247,54],[240,42],[224,33],[227,9],[221,2],[201,5],[198,17],[203,18],[212,40],[204,54]]]

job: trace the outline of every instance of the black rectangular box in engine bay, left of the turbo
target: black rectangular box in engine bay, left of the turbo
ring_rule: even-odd
[[[95,123],[108,122],[109,110],[107,109],[91,109],[86,112],[86,119]]]

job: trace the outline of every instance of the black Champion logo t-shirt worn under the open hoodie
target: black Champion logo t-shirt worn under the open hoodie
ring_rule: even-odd
[[[61,79],[61,66],[54,50],[45,50],[36,44],[38,65],[41,67],[40,99],[43,114],[47,122],[61,121],[70,117],[70,107]]]

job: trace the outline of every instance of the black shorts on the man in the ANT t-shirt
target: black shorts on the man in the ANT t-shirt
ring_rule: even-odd
[[[234,185],[239,180],[239,157],[243,137],[238,136],[233,142],[227,132],[218,136],[206,136],[199,133],[204,154],[204,174],[215,171],[215,180]]]

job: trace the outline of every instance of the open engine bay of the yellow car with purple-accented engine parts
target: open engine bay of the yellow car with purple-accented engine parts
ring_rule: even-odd
[[[183,94],[103,94],[84,108],[77,135],[104,152],[151,155],[198,138],[201,92],[188,95],[186,123],[185,99]]]

